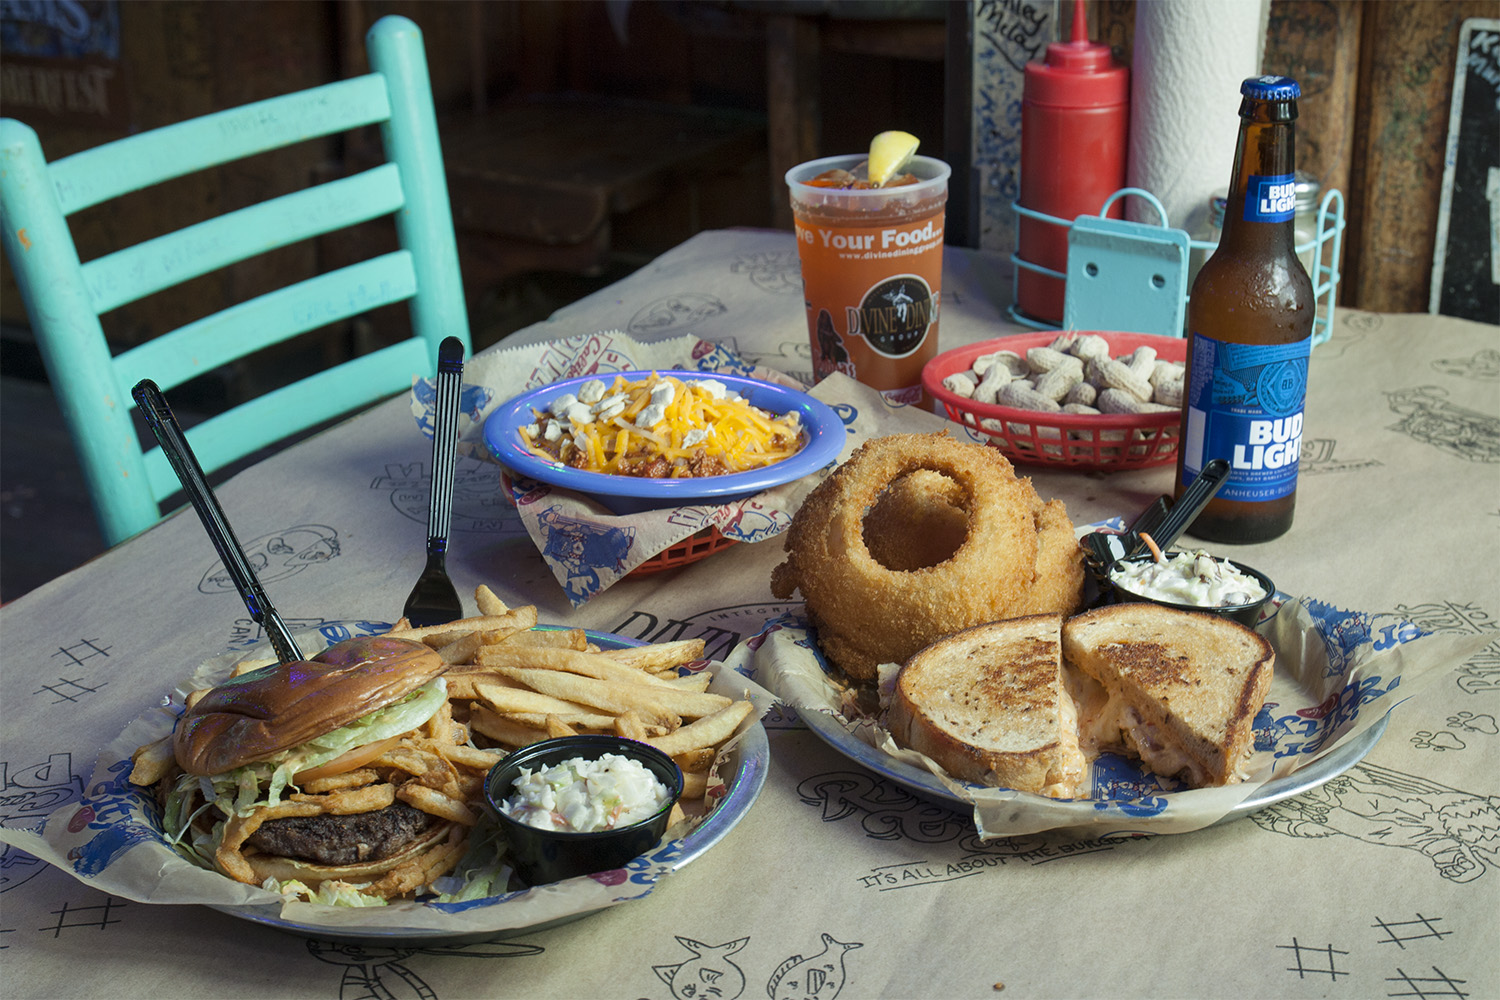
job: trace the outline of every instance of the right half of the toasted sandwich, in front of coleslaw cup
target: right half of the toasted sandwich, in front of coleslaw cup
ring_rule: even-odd
[[[1275,652],[1260,634],[1215,615],[1112,604],[1062,625],[1062,655],[1098,681],[1083,708],[1083,742],[1124,747],[1192,787],[1233,784],[1250,753]]]

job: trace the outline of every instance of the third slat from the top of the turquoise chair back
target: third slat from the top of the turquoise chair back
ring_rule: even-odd
[[[178,327],[168,336],[147,340],[118,355],[114,370],[126,397],[142,378],[168,390],[291,336],[351,319],[414,294],[417,276],[411,253],[392,250],[256,295]]]

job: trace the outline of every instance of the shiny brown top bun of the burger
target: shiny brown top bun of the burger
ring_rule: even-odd
[[[348,639],[225,681],[183,714],[172,750],[189,774],[224,774],[394,705],[444,670],[420,642]]]

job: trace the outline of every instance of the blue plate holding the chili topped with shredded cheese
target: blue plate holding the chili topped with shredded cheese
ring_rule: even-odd
[[[484,420],[484,445],[495,459],[526,478],[574,490],[598,499],[616,514],[628,514],[660,507],[687,507],[692,504],[728,504],[753,496],[772,486],[782,486],[812,475],[838,457],[844,444],[844,426],[838,415],[820,400],[786,385],[762,382],[738,375],[717,372],[657,372],[684,382],[716,379],[746,397],[752,406],[771,414],[796,411],[802,418],[807,444],[789,459],[764,469],[708,475],[682,480],[650,480],[639,475],[610,475],[608,472],[585,472],[560,462],[537,456],[520,439],[520,427],[534,420],[534,409],[546,409],[562,393],[574,393],[590,379],[609,381],[615,375],[627,379],[644,379],[650,372],[602,372],[552,382],[524,393],[504,403]]]

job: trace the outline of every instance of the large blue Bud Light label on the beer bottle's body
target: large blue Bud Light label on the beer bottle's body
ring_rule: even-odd
[[[1275,501],[1298,487],[1311,348],[1311,337],[1251,345],[1192,334],[1184,480],[1221,457],[1222,499]]]

